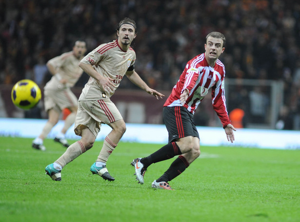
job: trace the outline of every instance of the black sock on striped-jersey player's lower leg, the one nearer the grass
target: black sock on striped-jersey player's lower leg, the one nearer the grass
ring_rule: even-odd
[[[184,156],[179,156],[168,168],[167,171],[164,172],[164,174],[156,180],[156,182],[166,182],[173,180],[175,177],[180,175],[187,167],[189,166],[189,163],[185,159]]]

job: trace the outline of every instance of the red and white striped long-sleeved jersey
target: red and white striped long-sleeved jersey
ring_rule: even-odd
[[[223,127],[226,127],[230,124],[230,120],[225,103],[224,77],[225,67],[219,59],[214,67],[210,67],[204,53],[195,56],[187,62],[164,106],[184,106],[194,114],[204,96],[211,89],[213,108]],[[189,90],[189,96],[182,105],[180,104],[180,95],[185,89]]]

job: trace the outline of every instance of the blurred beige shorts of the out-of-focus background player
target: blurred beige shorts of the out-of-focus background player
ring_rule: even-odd
[[[45,111],[55,109],[61,112],[64,108],[76,107],[77,105],[78,98],[70,89],[44,91]]]

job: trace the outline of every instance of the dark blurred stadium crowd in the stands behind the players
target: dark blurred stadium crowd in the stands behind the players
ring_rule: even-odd
[[[220,57],[226,78],[284,81],[285,113],[300,119],[299,0],[0,1],[0,84],[30,78],[43,86],[49,77],[43,61],[67,52],[78,38],[89,51],[111,41],[123,17],[138,21],[132,47],[149,87],[171,90],[206,35],[219,31],[228,39]],[[120,85],[132,87],[127,79]]]

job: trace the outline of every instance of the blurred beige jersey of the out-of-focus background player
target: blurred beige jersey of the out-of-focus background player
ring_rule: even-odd
[[[83,73],[83,70],[78,66],[81,58],[77,58],[73,51],[71,51],[50,59],[48,62],[56,68],[59,77],[57,74],[53,75],[51,80],[45,85],[44,90],[73,87]],[[66,79],[67,83],[61,84],[60,79]]]

